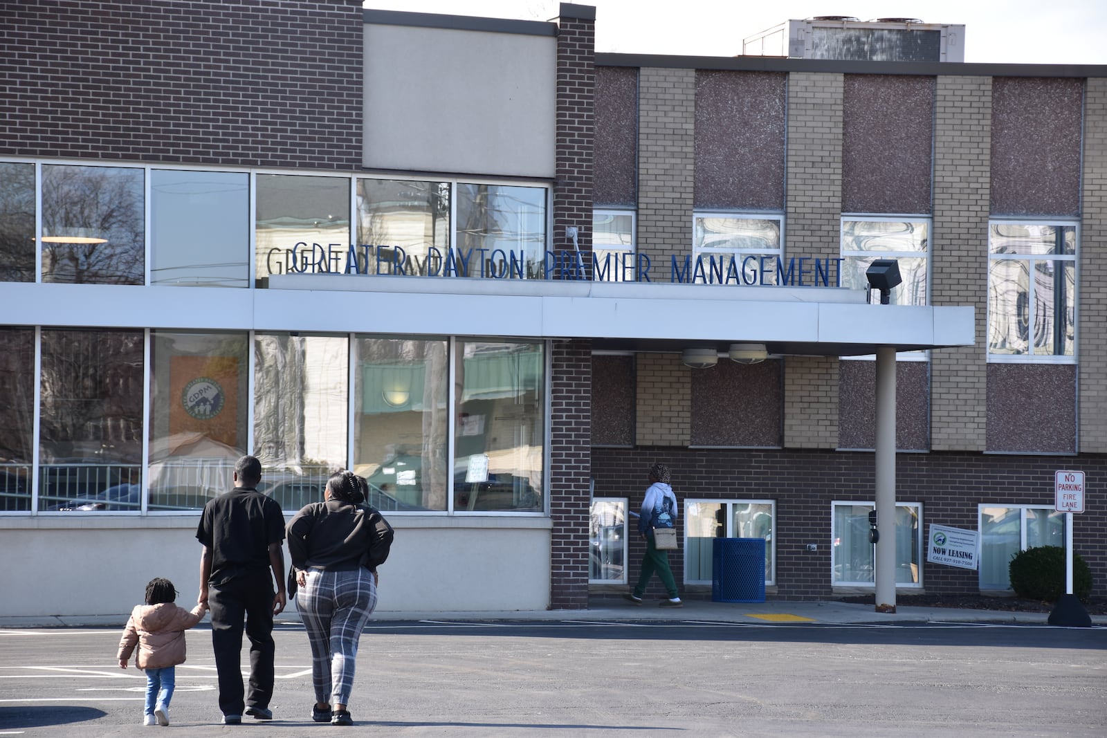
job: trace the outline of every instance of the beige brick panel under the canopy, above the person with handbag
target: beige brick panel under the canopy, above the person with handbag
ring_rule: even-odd
[[[680,354],[640,353],[637,429],[639,446],[687,446],[692,440],[692,381]]]

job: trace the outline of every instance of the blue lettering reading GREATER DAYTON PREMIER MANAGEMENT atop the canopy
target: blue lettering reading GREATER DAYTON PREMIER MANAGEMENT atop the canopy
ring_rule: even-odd
[[[840,287],[838,257],[775,254],[670,256],[655,263],[631,251],[544,251],[437,249],[411,254],[399,246],[349,246],[299,242],[259,256],[269,274],[391,274],[477,279],[598,280],[677,284],[764,287]]]

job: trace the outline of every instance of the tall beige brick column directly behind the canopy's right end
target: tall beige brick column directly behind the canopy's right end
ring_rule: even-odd
[[[931,353],[933,450],[984,450],[992,79],[938,77],[930,297],[974,309],[974,345]]]

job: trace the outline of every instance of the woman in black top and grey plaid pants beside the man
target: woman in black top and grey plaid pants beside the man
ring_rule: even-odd
[[[368,482],[352,471],[333,474],[323,501],[304,506],[288,523],[290,578],[297,584],[296,604],[311,644],[315,723],[353,725],[349,706],[358,641],[376,607],[376,565],[383,563],[379,532],[383,519],[365,505],[368,489]],[[383,544],[384,555],[389,542],[391,538]]]

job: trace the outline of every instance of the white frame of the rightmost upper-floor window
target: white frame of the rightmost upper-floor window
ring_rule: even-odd
[[[1073,253],[1053,254],[1023,254],[1023,253],[993,253],[992,252],[992,227],[993,226],[1053,226],[1059,228],[1073,228]],[[1078,363],[1080,346],[1080,221],[1078,218],[1047,217],[1047,218],[1011,218],[997,217],[989,218],[987,233],[987,284],[984,293],[985,323],[984,323],[984,354],[989,364],[1076,364]],[[1034,263],[1036,261],[1064,261],[1073,263],[1073,354],[1035,354],[1034,353],[1034,320],[1035,311],[1027,310],[1031,322],[1027,324],[1027,344],[1030,353],[1025,354],[1003,354],[992,351],[992,262],[993,261],[1024,261],[1027,264],[1031,279],[1028,280],[1027,299],[1030,304],[1034,304],[1034,293],[1036,285],[1034,280]],[[1054,305],[1056,309],[1056,305]],[[1016,316],[1017,320],[1017,316]]]

